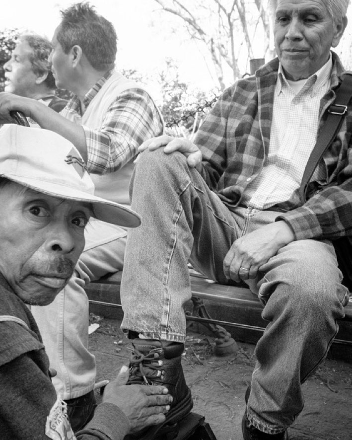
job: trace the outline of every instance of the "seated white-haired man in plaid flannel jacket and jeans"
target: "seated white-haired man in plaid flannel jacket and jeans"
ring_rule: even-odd
[[[143,220],[129,232],[121,286],[132,365],[151,383],[173,383],[170,413],[182,417],[190,393],[181,364],[150,359],[161,348],[182,352],[187,263],[220,283],[245,281],[269,322],[246,393],[245,440],[288,438],[301,384],[326,357],[349,299],[331,240],[351,231],[351,107],[309,200],[298,195],[344,71],[331,47],[348,3],[273,0],[278,58],[223,92],[194,143],[162,136],[139,148],[132,208]]]

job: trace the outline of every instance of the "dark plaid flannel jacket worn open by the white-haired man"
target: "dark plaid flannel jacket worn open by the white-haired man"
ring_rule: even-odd
[[[335,99],[334,88],[344,72],[332,53],[331,90],[322,98],[319,127],[326,109]],[[228,206],[241,204],[246,186],[259,174],[270,144],[273,101],[279,60],[272,60],[255,76],[237,81],[226,89],[198,131],[195,143],[203,154],[201,174],[208,186]],[[323,161],[327,182],[312,181],[310,199],[302,206],[298,188],[289,200],[275,208],[286,210],[277,220],[285,220],[296,239],[334,239],[352,235],[352,106]],[[337,185],[324,188],[336,182]]]

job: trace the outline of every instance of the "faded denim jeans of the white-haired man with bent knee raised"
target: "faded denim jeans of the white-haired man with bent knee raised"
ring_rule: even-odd
[[[278,213],[231,212],[181,153],[165,154],[162,148],[141,154],[130,190],[142,223],[128,233],[122,328],[184,342],[183,306],[191,298],[187,263],[226,283],[223,260],[233,241],[275,221]],[[282,432],[302,410],[301,383],[326,357],[336,320],[344,316],[349,293],[341,279],[331,242],[297,240],[251,280],[269,322],[256,347],[247,408],[261,431]]]

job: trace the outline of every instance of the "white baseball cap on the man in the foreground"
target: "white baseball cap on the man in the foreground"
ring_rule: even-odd
[[[73,144],[50,130],[6,124],[0,129],[0,177],[60,199],[91,204],[96,219],[141,224],[137,213],[94,196],[94,184]]]

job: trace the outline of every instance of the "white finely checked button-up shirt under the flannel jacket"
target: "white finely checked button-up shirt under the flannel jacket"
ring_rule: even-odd
[[[330,89],[332,66],[330,58],[317,73],[302,81],[297,93],[279,66],[269,152],[258,177],[244,191],[244,205],[269,209],[288,200],[299,188],[316,143],[320,100]],[[326,178],[323,163],[318,165],[315,177],[321,181]]]

